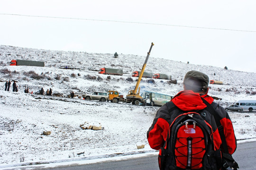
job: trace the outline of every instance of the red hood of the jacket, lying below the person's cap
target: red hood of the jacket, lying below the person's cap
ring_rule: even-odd
[[[213,98],[209,95],[194,93],[192,90],[184,90],[179,92],[171,101],[174,102],[179,109],[184,111],[202,110],[207,106],[203,103],[201,97],[203,97],[210,104],[213,102]]]

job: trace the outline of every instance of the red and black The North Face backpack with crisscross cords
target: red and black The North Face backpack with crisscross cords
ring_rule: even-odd
[[[173,102],[167,102],[172,111],[169,132],[159,151],[160,170],[219,170],[221,152],[213,141],[212,114],[208,110],[185,112]],[[208,121],[206,121],[208,120]]]

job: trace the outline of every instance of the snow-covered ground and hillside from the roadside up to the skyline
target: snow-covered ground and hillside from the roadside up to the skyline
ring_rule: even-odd
[[[86,62],[81,61],[81,56],[84,57],[81,52],[0,46],[0,164],[152,151],[146,140],[146,131],[157,107],[79,99],[84,93],[98,90],[118,90],[126,95],[134,88],[137,78],[133,78],[133,82],[126,79],[131,77],[133,70],[142,67],[146,57],[119,54],[113,65],[110,62],[114,60],[113,54],[86,53]],[[11,59],[45,60],[46,67],[8,66]],[[132,64],[127,64],[127,61]],[[79,69],[61,69],[64,66]],[[124,75],[99,75],[95,70],[102,67],[122,68]],[[192,69],[224,82],[224,85],[210,85],[209,92],[211,96],[222,99],[216,100],[222,106],[238,99],[256,99],[256,95],[251,94],[256,92],[256,73],[150,58],[145,71],[165,71],[178,84],[169,84],[167,80],[149,83],[148,78],[143,78],[141,92],[147,90],[175,95],[183,88],[183,76]],[[60,79],[56,79],[57,76]],[[18,81],[18,92],[4,91],[5,81],[9,79]],[[24,93],[25,86],[34,93],[41,87],[45,91],[52,88],[54,96]],[[74,99],[68,98],[71,91],[77,95]],[[229,112],[229,115],[238,140],[255,138],[255,111]],[[103,129],[82,130],[80,125],[85,121],[101,123]],[[42,135],[43,131],[51,131],[51,135]],[[145,144],[145,148],[137,149],[137,144]]]

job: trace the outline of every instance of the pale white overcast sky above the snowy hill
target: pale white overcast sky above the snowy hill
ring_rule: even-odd
[[[152,59],[256,73],[256,0],[0,2],[1,45],[146,56],[151,42]]]

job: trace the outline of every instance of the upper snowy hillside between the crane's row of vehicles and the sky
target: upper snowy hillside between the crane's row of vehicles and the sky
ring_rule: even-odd
[[[91,91],[118,90],[125,96],[128,90],[133,89],[136,84],[126,81],[126,78],[131,77],[133,71],[142,68],[147,51],[148,49],[145,49],[145,56],[119,54],[119,57],[115,59],[114,54],[48,51],[1,45],[0,57],[1,64],[4,66],[1,69],[11,71],[10,74],[2,74],[1,81],[9,79],[18,81],[20,91],[24,90],[25,86],[28,86],[33,92],[44,87],[45,89],[52,88],[53,93],[67,96],[71,91],[77,95],[82,95],[83,93],[91,93]],[[154,52],[154,48],[152,52]],[[45,61],[46,67],[8,67],[11,59]],[[75,69],[60,69],[65,67]],[[108,75],[99,75],[98,70],[103,67],[123,69],[124,75],[110,76],[110,78]],[[198,70],[207,74],[210,79],[223,81],[224,85],[210,85],[210,94],[222,98],[224,102],[233,102],[245,96],[251,98],[252,95],[246,94],[246,91],[250,93],[256,91],[256,73],[226,70],[224,67],[187,64],[173,60],[150,58],[149,56],[145,71],[170,75],[172,79],[177,80],[178,84],[168,84],[165,80],[155,80],[155,83],[152,84],[147,82],[147,78],[143,78],[140,84],[141,92],[146,90],[174,95],[183,89],[183,77],[190,70]],[[30,78],[33,75],[29,75],[29,71],[35,71],[39,75],[37,76],[38,79]],[[91,76],[96,76],[96,79]],[[133,80],[136,81],[137,78],[133,78]],[[234,95],[235,98],[230,97]]]

